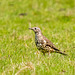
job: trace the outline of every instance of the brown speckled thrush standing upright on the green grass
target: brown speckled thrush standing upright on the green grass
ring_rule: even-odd
[[[59,53],[62,55],[67,55],[64,52],[61,52],[50,40],[48,40],[42,34],[39,27],[32,27],[29,29],[34,31],[36,47],[39,51],[43,53],[43,55],[45,55],[45,53],[48,53],[48,55],[50,55],[51,53]]]

